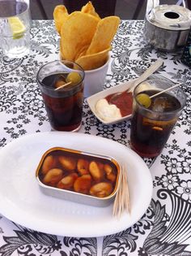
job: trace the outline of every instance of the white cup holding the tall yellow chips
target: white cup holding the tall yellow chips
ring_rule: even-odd
[[[84,98],[88,98],[91,95],[103,90],[110,59],[111,57],[109,55],[108,61],[104,63],[104,66],[85,71]]]

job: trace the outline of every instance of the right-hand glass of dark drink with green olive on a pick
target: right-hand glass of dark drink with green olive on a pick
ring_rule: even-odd
[[[185,106],[186,95],[180,88],[150,98],[170,86],[167,80],[148,80],[134,89],[130,146],[143,157],[160,154]]]

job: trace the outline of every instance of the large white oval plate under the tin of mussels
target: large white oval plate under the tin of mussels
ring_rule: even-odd
[[[112,217],[112,205],[85,206],[46,196],[36,181],[42,154],[53,146],[105,154],[128,171],[130,215]],[[138,221],[151,202],[152,178],[142,158],[124,145],[73,132],[40,132],[20,137],[0,150],[0,212],[27,228],[59,236],[106,236]]]

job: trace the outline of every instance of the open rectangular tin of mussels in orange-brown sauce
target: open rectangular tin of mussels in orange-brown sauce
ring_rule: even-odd
[[[36,169],[43,193],[91,206],[112,203],[119,176],[114,158],[62,147],[47,150]]]

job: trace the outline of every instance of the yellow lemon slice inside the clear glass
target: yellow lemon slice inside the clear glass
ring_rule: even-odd
[[[23,33],[25,33],[26,28],[23,22],[19,19],[19,17],[8,18],[8,21],[11,26],[13,38],[19,39],[20,37],[23,37]]]

